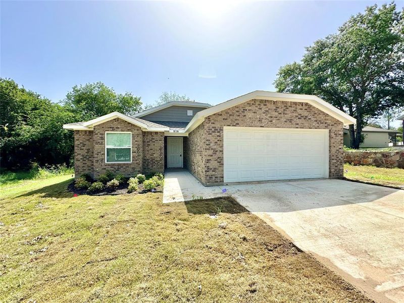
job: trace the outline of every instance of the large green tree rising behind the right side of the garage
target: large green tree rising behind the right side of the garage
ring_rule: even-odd
[[[336,34],[307,47],[301,62],[281,67],[276,89],[316,94],[356,118],[349,132],[359,148],[370,118],[404,105],[403,15],[392,3],[350,17]]]

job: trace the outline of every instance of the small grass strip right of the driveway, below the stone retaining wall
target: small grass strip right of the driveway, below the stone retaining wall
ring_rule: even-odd
[[[401,168],[344,164],[344,177],[350,180],[404,188],[404,169]]]

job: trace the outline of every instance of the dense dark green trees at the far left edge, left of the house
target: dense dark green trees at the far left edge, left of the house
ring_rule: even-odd
[[[76,122],[73,113],[11,79],[0,79],[0,100],[2,167],[28,168],[31,161],[69,164],[73,135],[62,126]]]

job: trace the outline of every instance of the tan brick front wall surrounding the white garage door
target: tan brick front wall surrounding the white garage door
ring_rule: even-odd
[[[329,129],[329,177],[343,175],[342,122],[308,103],[250,100],[205,118],[203,131],[189,134],[205,142],[205,176],[199,177],[198,162],[190,162],[188,169],[206,184],[223,183],[224,126]]]

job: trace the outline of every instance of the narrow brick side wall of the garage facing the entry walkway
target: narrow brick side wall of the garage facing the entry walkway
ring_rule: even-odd
[[[205,183],[206,144],[204,141],[204,123],[198,125],[188,137],[184,137],[184,161],[187,168],[195,177]]]

